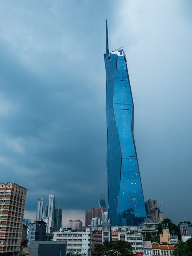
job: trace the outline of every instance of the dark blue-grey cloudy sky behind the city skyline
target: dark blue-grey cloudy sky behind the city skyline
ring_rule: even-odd
[[[145,200],[192,220],[192,2],[0,2],[0,181],[28,189],[26,218],[55,194],[64,223],[107,197],[105,20],[124,46]]]

